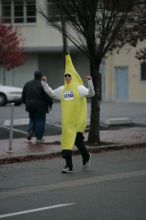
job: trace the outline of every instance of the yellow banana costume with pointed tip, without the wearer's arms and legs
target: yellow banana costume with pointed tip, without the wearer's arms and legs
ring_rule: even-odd
[[[72,80],[69,84],[65,83],[61,94],[62,107],[62,150],[72,150],[76,133],[84,132],[87,120],[87,102],[86,98],[81,98],[78,86],[83,85],[83,81],[76,72],[70,55],[65,57],[65,74],[70,74]]]

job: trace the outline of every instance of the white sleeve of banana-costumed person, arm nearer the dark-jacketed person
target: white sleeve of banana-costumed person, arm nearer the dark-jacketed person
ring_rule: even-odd
[[[51,96],[54,99],[61,99],[61,93],[63,90],[63,86],[58,87],[57,89],[52,89],[47,82],[41,81],[44,91],[47,95]]]

